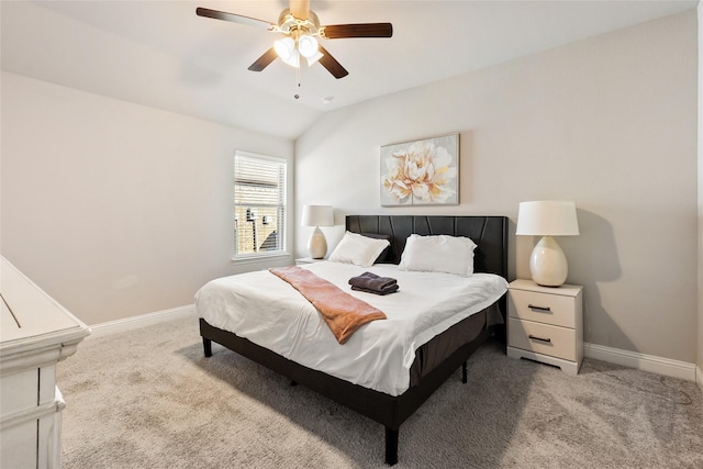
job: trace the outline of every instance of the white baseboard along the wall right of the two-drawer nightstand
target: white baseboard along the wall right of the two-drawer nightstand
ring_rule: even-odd
[[[703,379],[700,368],[696,373],[695,364],[671,360],[654,355],[645,355],[595,344],[583,344],[583,355],[594,360],[607,361],[609,364],[622,365],[628,368],[685,379],[693,382],[696,381],[698,376],[699,387],[701,387],[701,380]]]

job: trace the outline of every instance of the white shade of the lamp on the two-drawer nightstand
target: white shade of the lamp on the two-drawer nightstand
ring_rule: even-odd
[[[568,201],[545,200],[521,202],[516,235],[574,236],[579,234],[576,204]]]

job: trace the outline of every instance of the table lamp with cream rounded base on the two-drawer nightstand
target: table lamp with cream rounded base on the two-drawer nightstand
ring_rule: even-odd
[[[543,287],[560,287],[569,267],[563,250],[553,236],[579,234],[576,204],[567,201],[521,202],[516,235],[542,236],[529,256],[532,279]]]

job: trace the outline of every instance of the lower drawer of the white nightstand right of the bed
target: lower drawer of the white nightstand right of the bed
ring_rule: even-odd
[[[576,331],[548,324],[507,320],[507,343],[511,347],[538,354],[577,360]]]

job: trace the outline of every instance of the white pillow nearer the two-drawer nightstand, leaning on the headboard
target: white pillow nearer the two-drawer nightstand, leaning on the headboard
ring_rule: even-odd
[[[476,244],[468,237],[412,234],[405,242],[399,268],[468,277],[473,273],[473,249]]]

